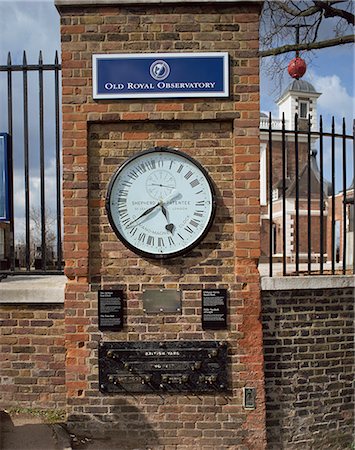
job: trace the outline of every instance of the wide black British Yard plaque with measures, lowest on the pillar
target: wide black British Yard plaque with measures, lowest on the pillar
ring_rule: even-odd
[[[101,342],[103,393],[216,393],[228,390],[228,344],[216,341]]]

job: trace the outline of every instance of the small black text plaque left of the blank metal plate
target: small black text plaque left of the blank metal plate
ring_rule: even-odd
[[[123,291],[99,291],[99,330],[120,331],[123,327]]]

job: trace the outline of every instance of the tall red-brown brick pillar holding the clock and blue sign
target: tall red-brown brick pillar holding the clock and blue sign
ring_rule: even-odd
[[[66,385],[71,426],[106,432],[127,448],[265,448],[259,256],[259,5],[61,8],[63,62]],[[228,99],[92,100],[93,53],[228,51]],[[128,156],[177,146],[210,172],[217,216],[186,258],[153,263],[121,244],[104,212],[107,182]],[[146,316],[143,287],[182,291],[181,315]],[[120,287],[125,327],[101,333],[97,290]],[[226,287],[226,331],[204,332],[201,289]],[[100,340],[226,339],[231,393],[105,396],[98,391]],[[242,387],[257,408],[242,407]],[[96,421],[96,426],[93,421]],[[131,447],[130,447],[131,446]],[[123,447],[122,447],[123,448]],[[157,447],[156,447],[157,448]]]

